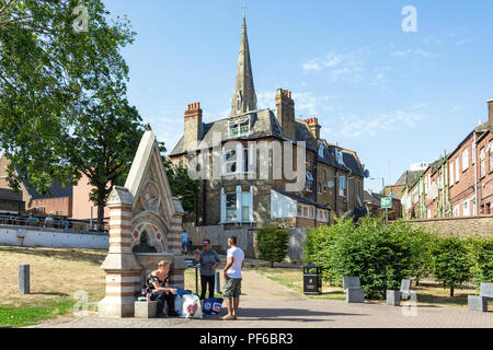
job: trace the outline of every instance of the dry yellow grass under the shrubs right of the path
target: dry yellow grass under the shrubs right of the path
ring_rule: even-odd
[[[290,290],[302,294],[303,281],[302,270],[298,268],[271,268],[265,265],[248,265],[253,271],[267,277],[268,279],[286,285]],[[472,285],[465,285],[463,289],[456,289],[455,296],[449,296],[449,290],[440,287],[436,281],[427,279],[415,287],[413,283],[412,290],[417,294],[419,305],[436,305],[436,306],[458,306],[467,307],[468,294],[478,295],[478,292]],[[331,287],[324,282],[322,285],[322,295],[309,296],[310,299],[330,299],[330,300],[346,300],[342,288]],[[374,303],[383,304],[385,301],[370,301]]]

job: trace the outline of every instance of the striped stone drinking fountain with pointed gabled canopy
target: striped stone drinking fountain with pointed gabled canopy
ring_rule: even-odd
[[[184,288],[184,212],[171,195],[156,136],[146,129],[125,187],[115,186],[107,201],[110,248],[101,266],[106,296],[99,303],[103,317],[133,317],[136,295],[159,261],[172,264],[170,283]]]

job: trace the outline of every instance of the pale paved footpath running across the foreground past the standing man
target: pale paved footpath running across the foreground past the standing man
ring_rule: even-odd
[[[237,320],[221,320],[220,316],[193,320],[76,317],[34,328],[493,328],[493,312],[434,306],[410,310],[409,306],[312,300],[253,271],[243,273],[244,295]]]

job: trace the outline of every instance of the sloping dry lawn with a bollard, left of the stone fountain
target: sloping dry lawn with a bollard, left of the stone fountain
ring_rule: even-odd
[[[77,291],[89,310],[104,298],[105,250],[0,246],[0,327],[23,327],[72,313]],[[31,294],[19,293],[19,265],[31,265]]]

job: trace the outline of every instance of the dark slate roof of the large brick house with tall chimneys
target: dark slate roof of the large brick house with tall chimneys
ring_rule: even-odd
[[[251,121],[251,130],[248,137],[240,137],[230,139],[228,135],[229,128],[229,118],[219,119],[213,122],[203,124],[203,135],[202,142],[207,144],[209,148],[214,145],[213,143],[213,135],[215,132],[219,132],[221,135],[221,141],[232,141],[232,140],[257,140],[267,137],[273,137],[279,140],[287,140],[280,130],[279,124],[277,122],[277,118],[275,114],[271,109],[262,109],[246,113],[242,116],[252,116]],[[241,116],[238,116],[241,118]],[[319,142],[313,138],[310,129],[308,128],[308,124],[305,120],[295,119],[295,141],[305,141],[308,150],[318,153]],[[171,151],[169,156],[176,156],[184,154],[185,151],[183,149],[184,138],[182,137],[180,141],[176,143],[174,149]],[[318,158],[318,160],[328,165],[341,168],[345,172],[351,172],[352,174],[356,174],[359,176],[365,176],[363,166],[359,163],[359,160],[354,151],[337,147],[335,144],[331,144],[325,140],[322,140],[322,144],[324,145],[323,158]],[[335,151],[340,150],[343,155],[343,162],[337,163]]]

